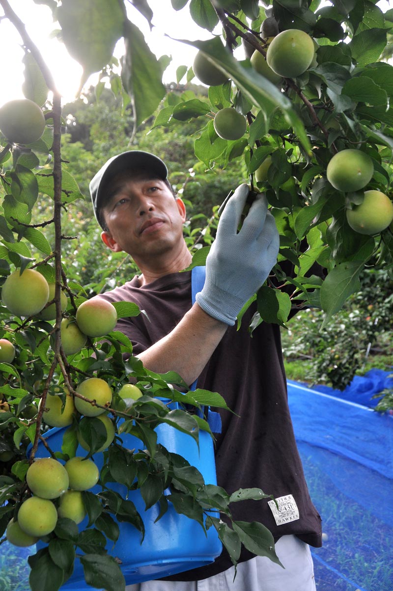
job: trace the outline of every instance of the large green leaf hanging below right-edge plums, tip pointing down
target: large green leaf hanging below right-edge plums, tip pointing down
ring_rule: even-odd
[[[347,297],[360,290],[359,274],[364,266],[363,261],[342,262],[328,273],[321,287],[321,306],[326,312],[322,327],[342,309]]]

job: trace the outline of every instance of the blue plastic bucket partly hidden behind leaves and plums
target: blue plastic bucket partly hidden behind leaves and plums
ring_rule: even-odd
[[[169,452],[183,456],[192,466],[197,467],[202,473],[205,483],[217,484],[215,475],[214,447],[208,433],[199,432],[199,450],[197,443],[191,436],[181,433],[177,429],[166,424],[156,428],[157,441]],[[44,434],[49,447],[54,452],[62,447],[65,428],[53,428]],[[128,449],[144,449],[142,441],[129,434],[121,434],[123,446]],[[86,451],[78,447],[77,456],[85,456]],[[48,457],[49,453],[42,443],[38,445],[36,457]],[[102,453],[94,454],[94,462],[101,470],[104,456]],[[127,493],[124,485],[108,483],[111,488],[122,496]],[[100,492],[101,487],[95,486],[92,492]],[[160,579],[160,577],[180,573],[185,570],[195,569],[212,563],[221,554],[222,545],[214,527],[211,527],[207,535],[196,521],[185,515],[179,515],[169,502],[169,508],[165,515],[157,523],[154,520],[159,515],[159,504],[153,505],[145,511],[145,504],[140,492],[130,491],[128,499],[133,501],[137,511],[141,515],[146,530],[143,543],[141,534],[128,523],[119,522],[120,537],[115,545],[108,541],[107,551],[111,556],[121,561],[120,567],[125,577],[126,584],[140,583],[147,580]],[[113,517],[113,516],[112,516]],[[87,518],[79,528],[85,527]],[[40,543],[37,547],[40,547]],[[80,551],[78,549],[78,551]],[[85,583],[83,567],[78,559],[75,560],[75,569],[72,577],[62,586],[66,589],[90,589]]]

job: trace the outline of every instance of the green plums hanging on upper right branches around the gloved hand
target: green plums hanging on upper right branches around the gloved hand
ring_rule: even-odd
[[[218,8],[222,8],[221,5]],[[226,9],[227,5],[225,6]],[[281,88],[285,78],[301,76],[317,66],[318,45],[307,33],[288,29],[279,33],[275,18],[266,18],[260,28],[261,47],[266,57],[250,43],[243,40],[246,56],[253,69],[273,85]],[[216,67],[202,51],[195,57],[195,76],[208,86],[218,86],[228,81],[224,72]],[[233,107],[220,109],[214,116],[214,129],[220,138],[236,140],[243,137],[247,120]],[[257,183],[266,183],[272,156],[268,155],[255,172]],[[327,166],[327,180],[339,191],[353,193],[363,191],[361,203],[347,200],[346,218],[349,226],[360,234],[376,235],[393,223],[393,203],[385,193],[364,190],[371,181],[374,167],[372,159],[362,150],[342,150],[335,154]],[[289,178],[281,189],[293,193],[294,178]],[[359,201],[359,199],[357,199]],[[392,227],[392,226],[391,226]]]

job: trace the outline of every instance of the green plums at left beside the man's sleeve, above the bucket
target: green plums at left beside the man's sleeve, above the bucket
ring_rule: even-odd
[[[4,306],[15,316],[32,317],[40,320],[54,320],[56,306],[55,284],[35,269],[20,269],[8,275],[4,282],[1,298]],[[67,297],[60,292],[62,311],[67,308]],[[114,329],[117,312],[111,303],[100,298],[86,300],[76,310],[76,317],[63,318],[60,336],[65,355],[74,355],[82,349],[88,337],[101,337]],[[12,363],[15,348],[8,339],[0,339],[0,362]]]

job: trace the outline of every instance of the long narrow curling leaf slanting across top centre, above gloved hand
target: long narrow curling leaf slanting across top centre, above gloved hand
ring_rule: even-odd
[[[217,37],[208,41],[182,40],[182,42],[202,50],[207,60],[211,61],[221,72],[227,74],[238,89],[254,105],[259,106],[264,113],[266,111],[270,113],[276,107],[279,107],[286,121],[294,128],[294,132],[304,149],[308,153],[311,152],[310,142],[305,133],[304,126],[292,108],[292,102],[275,85],[270,83],[269,80],[266,80],[265,76],[257,74],[255,70],[243,68],[240,62],[234,59]]]

